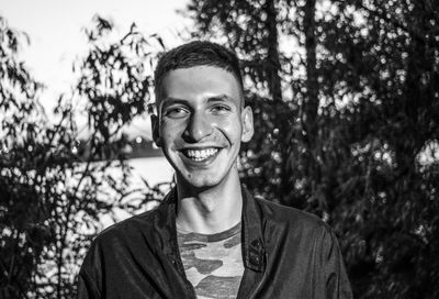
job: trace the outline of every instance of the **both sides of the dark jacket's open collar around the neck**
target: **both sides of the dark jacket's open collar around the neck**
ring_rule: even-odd
[[[262,273],[266,268],[266,246],[262,234],[261,214],[256,200],[250,192],[241,186],[243,215],[243,262],[244,266],[254,272]],[[160,245],[165,254],[171,258],[179,256],[176,229],[177,188],[175,187],[158,208],[157,232],[161,236]]]

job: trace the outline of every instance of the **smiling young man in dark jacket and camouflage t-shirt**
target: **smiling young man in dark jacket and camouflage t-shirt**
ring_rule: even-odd
[[[177,187],[94,240],[78,298],[351,298],[331,230],[239,182],[254,123],[235,54],[182,45],[160,58],[155,85],[154,140]]]

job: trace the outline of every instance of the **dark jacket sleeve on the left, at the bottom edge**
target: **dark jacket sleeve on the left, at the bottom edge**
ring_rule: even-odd
[[[98,287],[101,285],[101,257],[97,244],[92,244],[77,276],[77,299],[102,298]]]

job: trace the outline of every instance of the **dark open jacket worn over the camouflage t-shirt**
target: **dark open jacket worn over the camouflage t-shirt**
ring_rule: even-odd
[[[195,298],[176,232],[176,191],[154,211],[98,235],[78,277],[78,298]],[[238,298],[351,298],[337,240],[318,218],[243,191]]]

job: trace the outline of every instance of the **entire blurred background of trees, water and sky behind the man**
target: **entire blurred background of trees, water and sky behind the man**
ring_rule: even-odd
[[[0,298],[74,298],[91,240],[173,186],[153,69],[241,60],[243,181],[339,239],[354,298],[439,298],[439,1],[0,2]]]

